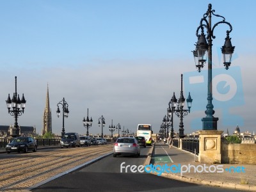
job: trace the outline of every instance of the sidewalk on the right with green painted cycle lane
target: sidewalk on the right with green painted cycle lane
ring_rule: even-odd
[[[164,166],[165,164],[167,166],[173,165],[173,171],[177,169],[179,164],[180,166],[184,165],[183,170],[186,170],[190,164],[190,173],[165,172],[161,174],[162,177],[196,184],[207,184],[209,186],[256,191],[256,164],[203,164],[196,162],[195,159],[197,161],[197,157],[195,158],[194,154],[179,150],[176,147],[170,149],[164,143],[156,143],[150,163],[155,166]],[[209,166],[211,166],[211,172],[207,173],[204,171],[204,167],[206,170],[209,170]],[[216,166],[218,166],[217,169]],[[198,168],[198,172],[202,172],[195,173],[195,167]],[[220,168],[222,171],[217,173]],[[234,168],[236,168],[237,173],[234,173]],[[244,173],[241,172],[241,168],[244,168]]]

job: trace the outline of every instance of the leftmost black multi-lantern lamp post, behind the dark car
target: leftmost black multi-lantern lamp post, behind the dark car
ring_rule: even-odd
[[[24,94],[22,93],[21,100],[20,100],[19,94],[17,94],[17,77],[15,76],[15,93],[13,93],[12,100],[10,98],[10,94],[8,94],[8,98],[6,100],[8,113],[14,116],[14,121],[15,121],[14,127],[11,132],[11,136],[13,138],[20,136],[20,129],[18,126],[18,116],[21,116],[22,113],[24,113],[25,104],[26,104],[26,100],[24,98]]]

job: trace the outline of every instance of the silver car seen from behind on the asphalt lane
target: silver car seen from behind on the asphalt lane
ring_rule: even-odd
[[[117,155],[140,156],[140,145],[136,138],[118,138],[113,147],[113,157]]]

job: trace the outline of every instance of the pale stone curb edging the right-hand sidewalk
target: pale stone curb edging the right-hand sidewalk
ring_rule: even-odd
[[[152,152],[155,148],[155,145],[152,147]],[[152,156],[152,153],[151,153]],[[151,156],[147,157],[147,160],[145,161],[145,164],[150,164],[151,161]],[[157,175],[157,173],[152,173],[153,175]],[[157,175],[159,176],[159,175]],[[194,184],[202,184],[202,185],[207,185],[207,186],[214,186],[214,187],[221,187],[221,188],[229,188],[229,189],[239,189],[239,190],[246,190],[246,191],[256,191],[256,186],[250,186],[250,185],[242,185],[242,184],[234,184],[234,183],[229,183],[229,182],[219,182],[219,181],[214,181],[214,180],[204,180],[204,179],[196,179],[195,177],[185,177],[185,176],[180,176],[176,175],[173,173],[162,173],[160,177],[165,177],[168,179],[175,179],[175,180],[181,180],[183,182],[190,182]]]

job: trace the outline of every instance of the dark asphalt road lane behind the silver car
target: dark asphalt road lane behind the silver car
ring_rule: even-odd
[[[32,189],[31,191],[234,191],[234,189],[214,188],[166,179],[150,173],[132,173],[130,167],[143,165],[150,147],[141,148],[140,157],[108,156],[76,172],[68,173],[58,179]],[[124,164],[125,162],[125,164]]]

